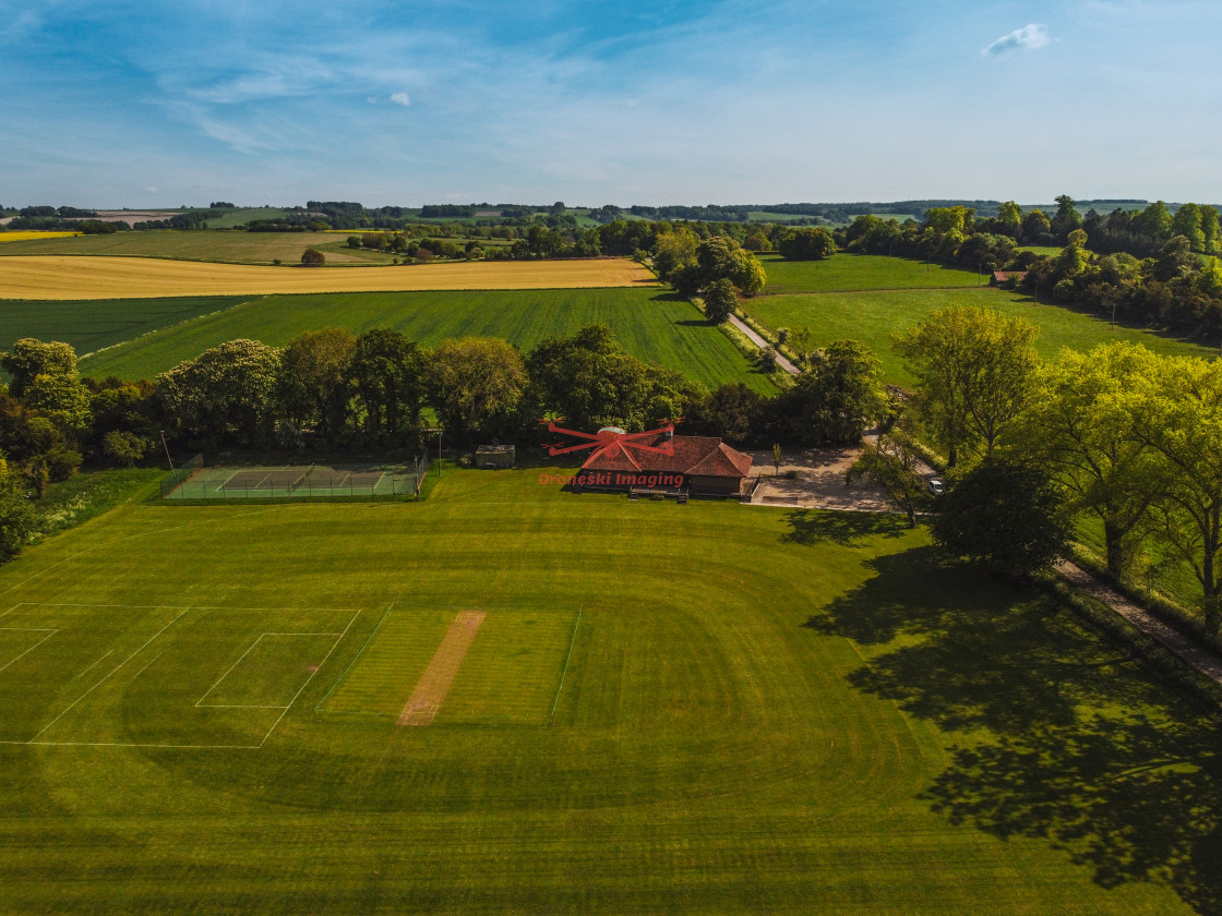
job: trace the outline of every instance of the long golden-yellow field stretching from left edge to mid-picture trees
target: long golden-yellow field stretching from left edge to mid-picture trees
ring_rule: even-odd
[[[409,289],[576,289],[654,283],[624,258],[463,261],[393,267],[260,267],[153,258],[0,258],[0,299],[152,299],[166,296]]]

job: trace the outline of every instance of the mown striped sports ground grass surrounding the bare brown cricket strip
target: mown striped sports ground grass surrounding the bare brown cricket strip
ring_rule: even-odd
[[[893,517],[536,474],[0,568],[0,911],[1217,912],[1216,711],[1052,598]]]

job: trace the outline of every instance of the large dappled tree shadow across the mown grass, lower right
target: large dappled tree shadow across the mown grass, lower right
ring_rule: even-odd
[[[952,823],[1046,840],[1103,887],[1156,881],[1222,915],[1218,711],[1050,596],[930,548],[873,565],[807,627],[874,647],[853,686],[947,734],[951,763],[920,798]]]

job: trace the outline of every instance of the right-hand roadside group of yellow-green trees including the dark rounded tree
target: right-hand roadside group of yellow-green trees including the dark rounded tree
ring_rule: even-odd
[[[1036,354],[1022,318],[954,307],[895,338],[918,379],[857,476],[912,514],[924,479],[918,442],[947,460],[934,522],[952,552],[1030,572],[1063,554],[1072,520],[1102,530],[1105,562],[1134,575],[1143,545],[1184,561],[1201,628],[1222,624],[1222,360],[1162,357],[1139,344]]]

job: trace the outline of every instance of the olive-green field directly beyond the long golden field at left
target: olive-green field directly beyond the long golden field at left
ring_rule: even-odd
[[[330,232],[214,232],[197,230],[150,230],[116,232],[111,236],[72,236],[6,242],[0,256],[17,254],[93,254],[128,258],[170,258],[187,261],[230,264],[297,264],[307,248],[326,255],[329,265],[359,266],[390,264],[392,255],[348,248],[345,234]],[[2,266],[4,261],[0,261]]]

